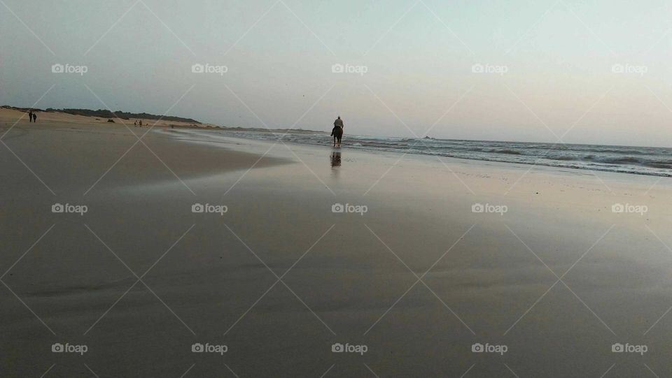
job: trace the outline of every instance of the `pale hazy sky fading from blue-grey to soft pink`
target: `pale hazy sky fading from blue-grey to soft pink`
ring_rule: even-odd
[[[657,0],[0,0],[0,104],[672,147],[671,16]]]

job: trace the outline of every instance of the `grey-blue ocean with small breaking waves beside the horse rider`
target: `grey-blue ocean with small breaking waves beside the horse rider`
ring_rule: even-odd
[[[258,129],[211,129],[195,133],[201,136],[231,136],[260,140],[282,139],[287,143],[332,145],[330,136],[310,131],[290,131],[284,134]],[[350,134],[344,137],[342,147],[672,177],[672,148],[666,147],[500,142],[428,137],[384,138]]]

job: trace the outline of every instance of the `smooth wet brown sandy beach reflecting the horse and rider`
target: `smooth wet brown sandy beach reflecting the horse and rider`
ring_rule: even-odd
[[[1,139],[0,376],[672,375],[671,179],[144,131]]]

